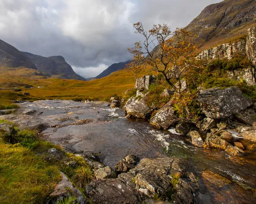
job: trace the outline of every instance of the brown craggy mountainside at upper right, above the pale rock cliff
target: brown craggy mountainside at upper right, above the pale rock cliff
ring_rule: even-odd
[[[247,29],[256,26],[256,0],[224,0],[207,6],[186,30],[198,37],[200,50],[244,37]]]

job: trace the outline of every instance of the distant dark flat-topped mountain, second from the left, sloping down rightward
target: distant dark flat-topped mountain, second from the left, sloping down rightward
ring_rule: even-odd
[[[35,64],[40,72],[51,75],[53,78],[85,80],[74,72],[62,56],[42,57],[29,52],[23,52],[23,54]]]

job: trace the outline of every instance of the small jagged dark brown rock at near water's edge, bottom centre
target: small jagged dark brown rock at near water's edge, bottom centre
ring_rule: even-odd
[[[127,157],[119,160],[116,163],[115,170],[116,173],[128,172],[129,170],[133,169],[135,165],[140,161],[135,155],[128,155]]]

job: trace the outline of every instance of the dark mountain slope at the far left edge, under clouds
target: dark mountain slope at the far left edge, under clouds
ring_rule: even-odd
[[[36,69],[26,55],[3,40],[0,40],[0,66]]]

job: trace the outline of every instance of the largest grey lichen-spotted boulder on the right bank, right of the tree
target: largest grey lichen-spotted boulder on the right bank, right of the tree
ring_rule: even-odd
[[[244,97],[236,86],[206,89],[198,94],[197,101],[204,114],[214,119],[227,118],[253,105],[253,101]]]

